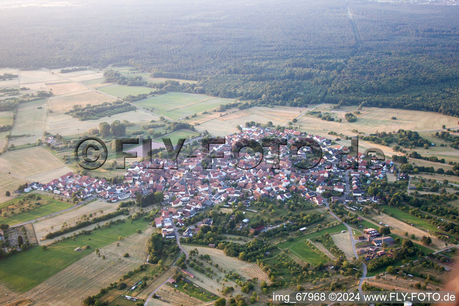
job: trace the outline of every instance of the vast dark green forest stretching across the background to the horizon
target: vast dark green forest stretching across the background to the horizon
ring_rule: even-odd
[[[338,0],[7,8],[0,67],[130,65],[250,106],[341,102],[459,116],[458,15],[456,6]]]

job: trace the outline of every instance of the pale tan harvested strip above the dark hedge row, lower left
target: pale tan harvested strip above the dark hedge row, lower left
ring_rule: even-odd
[[[62,228],[62,224],[64,222],[67,223],[67,226],[73,226],[80,218],[83,217],[83,215],[93,214],[93,217],[100,217],[104,214],[116,211],[117,207],[118,203],[107,203],[102,200],[95,200],[84,206],[79,206],[74,210],[34,223],[37,239],[40,240],[45,237],[48,232],[56,231]],[[100,212],[101,210],[103,211],[102,213]],[[94,225],[92,225],[91,228],[94,228]],[[81,231],[81,229],[78,229],[78,232],[79,231]],[[70,234],[66,234],[65,236],[68,235]],[[56,238],[53,240],[56,240]]]

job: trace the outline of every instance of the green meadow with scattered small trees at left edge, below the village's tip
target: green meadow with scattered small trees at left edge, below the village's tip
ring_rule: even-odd
[[[6,213],[6,216],[0,217],[0,223],[10,225],[22,223],[73,206],[72,203],[53,199],[49,195],[33,193],[33,195],[40,196],[41,200],[37,200],[35,197],[28,198],[28,195],[19,195],[12,200],[2,203],[0,208],[3,213]],[[39,205],[37,205],[37,203],[39,203]],[[24,209],[24,211],[21,211],[21,208]],[[12,210],[14,210],[14,214],[11,213]]]

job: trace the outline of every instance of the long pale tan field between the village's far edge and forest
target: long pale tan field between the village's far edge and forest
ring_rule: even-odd
[[[292,119],[300,116],[301,113],[306,110],[306,108],[286,106],[275,106],[273,108],[255,106],[249,109],[228,113],[222,117],[201,123],[195,128],[201,132],[207,130],[214,136],[224,136],[239,132],[236,128],[238,125],[245,126],[246,122],[251,121],[261,124],[266,124],[266,122],[271,121],[274,126],[285,126],[288,122],[291,122]],[[193,121],[192,118],[191,121]]]

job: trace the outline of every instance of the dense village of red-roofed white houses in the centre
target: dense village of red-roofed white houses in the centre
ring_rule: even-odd
[[[232,148],[241,139],[261,143],[266,138],[285,139],[287,145],[281,145],[279,152],[267,150],[261,162],[259,153],[254,156],[241,153],[238,159],[233,157]],[[315,167],[302,170],[293,164],[291,146],[298,139],[313,139],[319,143],[322,157],[313,162],[317,164]],[[292,129],[243,128],[238,134],[226,136],[224,144],[213,145],[209,149],[210,152],[198,150],[195,151],[195,157],[180,159],[178,169],[174,169],[175,162],[164,159],[134,162],[126,169],[123,183],[120,184],[69,172],[48,184],[36,184],[33,188],[81,199],[97,195],[109,201],[135,199],[137,195],[160,191],[164,195],[163,206],[168,209],[155,219],[155,226],[168,229],[172,222],[183,225],[198,211],[224,200],[229,205],[243,202],[250,206],[250,200],[259,197],[286,201],[296,194],[320,206],[324,204],[324,193],[344,193],[347,190],[346,202],[368,200],[364,197],[365,185],[373,178],[384,178],[386,172],[393,171],[392,161],[383,161],[380,170],[371,170],[367,168],[367,161],[362,159],[363,154],[343,156],[343,153],[350,151],[346,147],[332,144],[325,137]],[[293,154],[306,156],[308,150],[308,147],[303,147]],[[217,154],[222,157],[212,158],[212,169],[202,167],[202,161],[209,161],[210,155]],[[275,169],[276,165],[279,169]],[[351,165],[354,168],[349,170],[349,186],[346,186],[343,169]],[[317,186],[314,191],[309,189],[311,185]],[[173,230],[169,229],[167,233],[173,233]]]

